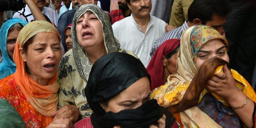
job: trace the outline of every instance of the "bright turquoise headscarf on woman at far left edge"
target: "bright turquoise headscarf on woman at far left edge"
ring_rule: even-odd
[[[23,26],[28,24],[23,19],[11,18],[6,22],[4,22],[0,29],[0,49],[2,52],[2,58],[3,58],[3,61],[0,63],[0,79],[13,74],[16,70],[16,65],[12,57],[8,55],[6,43],[7,43],[7,35],[10,27],[17,23],[20,23]]]

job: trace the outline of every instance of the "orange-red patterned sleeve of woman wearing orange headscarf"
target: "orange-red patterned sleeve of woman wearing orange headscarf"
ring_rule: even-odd
[[[13,75],[0,80],[0,98],[10,102],[22,116],[28,128],[45,128],[46,116],[35,111],[18,88]]]

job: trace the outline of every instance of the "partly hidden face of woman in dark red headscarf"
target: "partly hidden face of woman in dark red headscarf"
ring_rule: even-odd
[[[170,74],[176,74],[177,55],[178,55],[178,53],[175,53],[172,55],[171,58],[169,58],[169,59],[165,58],[165,60],[164,60],[167,71]]]

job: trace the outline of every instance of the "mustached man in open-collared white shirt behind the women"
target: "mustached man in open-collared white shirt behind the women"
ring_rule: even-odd
[[[165,34],[166,23],[150,15],[151,0],[126,0],[131,16],[115,22],[114,35],[120,42],[120,48],[135,53],[147,67],[150,62],[150,50],[156,39]]]

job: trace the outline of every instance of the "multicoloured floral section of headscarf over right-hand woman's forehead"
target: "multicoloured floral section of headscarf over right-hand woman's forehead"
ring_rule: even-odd
[[[203,34],[202,34],[203,33]],[[190,35],[190,47],[191,54],[194,57],[193,61],[196,63],[197,52],[203,44],[210,40],[221,39],[224,41],[226,47],[228,47],[228,41],[221,36],[221,34],[209,26],[195,26]]]

